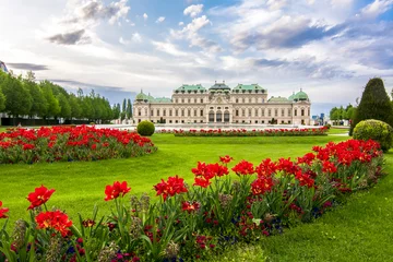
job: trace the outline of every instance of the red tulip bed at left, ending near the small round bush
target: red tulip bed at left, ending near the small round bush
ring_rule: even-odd
[[[126,158],[155,151],[150,139],[116,129],[43,127],[0,133],[0,164]]]

